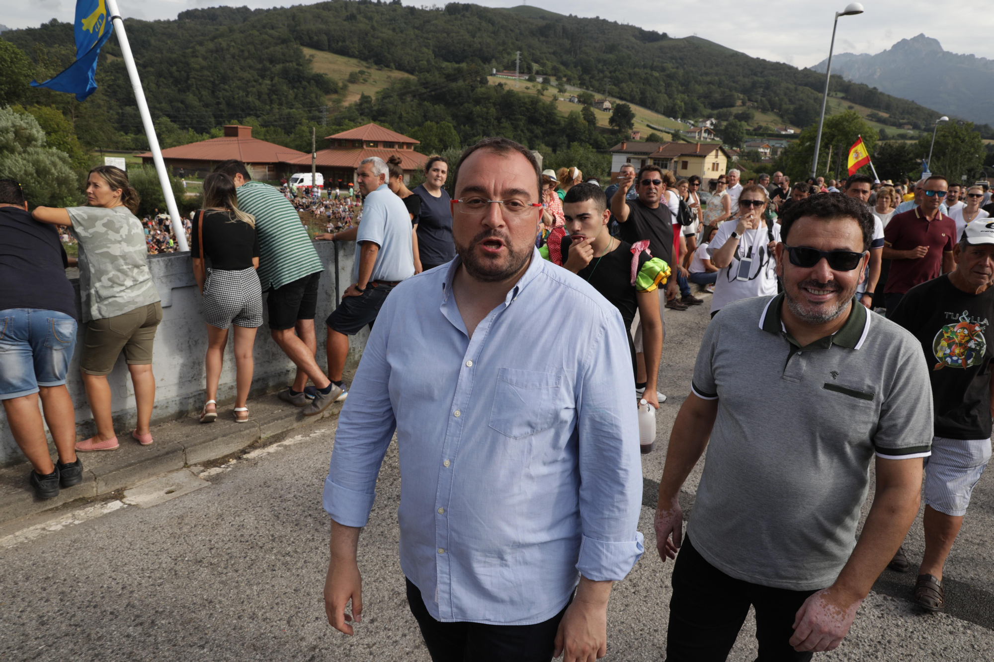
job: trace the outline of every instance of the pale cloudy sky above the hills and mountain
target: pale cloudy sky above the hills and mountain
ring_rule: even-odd
[[[684,0],[675,3],[646,3],[614,0],[618,10],[602,18],[666,32],[672,37],[697,35],[757,58],[810,67],[828,53],[835,11],[847,0],[794,0],[752,3],[747,0]],[[405,4],[428,5],[427,0],[404,0]],[[118,0],[121,13],[146,20],[172,19],[195,7],[222,4],[249,7],[280,7],[301,2],[279,0]],[[303,0],[303,4],[311,4]],[[444,2],[439,1],[439,5]],[[512,7],[521,0],[484,0],[491,7]],[[528,4],[561,14],[597,16],[603,2],[592,0],[528,0]],[[924,33],[953,53],[994,59],[994,12],[988,0],[962,0],[960,9],[941,9],[932,0],[864,0],[866,13],[839,19],[836,53],[880,53],[896,42]],[[834,7],[833,5],[838,5]],[[52,18],[72,21],[75,0],[0,0],[0,23],[11,28],[38,26]],[[658,11],[646,11],[646,7]],[[948,7],[948,5],[946,5]]]

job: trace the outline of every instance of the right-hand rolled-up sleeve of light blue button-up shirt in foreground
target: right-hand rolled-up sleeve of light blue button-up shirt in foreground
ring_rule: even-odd
[[[618,312],[605,313],[580,376],[580,521],[577,569],[586,579],[620,580],[642,556],[638,517],[642,461],[631,390],[631,354]]]

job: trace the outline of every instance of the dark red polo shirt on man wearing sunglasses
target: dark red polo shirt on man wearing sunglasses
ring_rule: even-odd
[[[884,230],[884,244],[896,250],[928,247],[924,257],[895,259],[887,276],[885,293],[904,294],[911,287],[925,280],[936,278],[942,272],[942,253],[952,252],[956,243],[956,222],[942,214],[928,221],[915,207],[898,214]]]

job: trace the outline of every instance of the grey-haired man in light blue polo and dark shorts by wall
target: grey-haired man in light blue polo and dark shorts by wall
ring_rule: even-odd
[[[328,316],[328,379],[334,388],[318,394],[304,414],[320,414],[342,395],[342,372],[349,354],[349,336],[369,324],[373,326],[387,295],[405,278],[414,275],[414,245],[411,215],[397,195],[387,187],[387,164],[374,156],[359,164],[359,190],[363,194],[363,217],[359,228],[330,239],[356,241],[355,282],[342,292],[342,302]]]

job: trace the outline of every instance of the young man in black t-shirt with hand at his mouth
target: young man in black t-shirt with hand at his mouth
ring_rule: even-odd
[[[663,351],[663,325],[659,318],[656,289],[666,283],[670,274],[669,265],[653,257],[647,250],[646,242],[633,247],[610,236],[607,223],[611,214],[599,186],[584,183],[571,188],[563,201],[563,211],[566,228],[570,232],[568,237],[563,238],[563,266],[586,280],[614,304],[621,313],[625,329],[631,328],[636,312],[639,314],[643,347],[635,347],[631,333],[628,334],[632,370],[637,374],[636,362],[644,362],[646,381],[636,383],[636,389],[644,389],[640,396],[659,409],[656,379]]]

